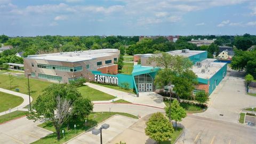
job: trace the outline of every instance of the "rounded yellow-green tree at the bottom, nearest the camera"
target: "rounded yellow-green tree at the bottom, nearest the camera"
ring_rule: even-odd
[[[162,113],[158,112],[151,115],[146,125],[145,133],[149,138],[157,142],[167,141],[172,138],[173,127]]]

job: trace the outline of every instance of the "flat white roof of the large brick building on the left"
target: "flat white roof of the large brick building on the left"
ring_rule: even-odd
[[[60,53],[28,55],[27,59],[77,62],[77,61],[92,60],[100,57],[108,57],[117,52],[118,52],[117,49],[60,52]]]

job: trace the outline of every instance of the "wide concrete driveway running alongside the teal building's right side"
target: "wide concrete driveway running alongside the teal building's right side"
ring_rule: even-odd
[[[238,123],[243,108],[256,106],[256,97],[245,92],[243,77],[244,73],[228,68],[227,76],[210,95],[209,108],[194,115]]]

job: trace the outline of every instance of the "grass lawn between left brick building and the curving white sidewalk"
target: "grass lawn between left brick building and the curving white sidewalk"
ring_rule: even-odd
[[[1,79],[0,87],[3,89],[10,90],[9,77],[7,74],[3,74],[6,72],[12,72],[12,73],[19,73],[19,72],[18,71],[6,71],[6,70],[0,71],[0,79]],[[18,88],[20,90],[19,91],[20,93],[28,94],[28,88],[27,88],[28,87],[27,86],[28,79],[27,79],[27,77],[25,77],[23,73],[20,76],[13,76],[13,77],[14,78],[13,78],[11,90],[15,91],[15,89]],[[40,80],[34,79],[34,78],[29,78],[30,95],[33,98],[33,101],[31,103],[33,104],[35,102],[36,98],[38,97],[38,95],[42,93],[42,90],[51,84],[53,84],[53,83],[40,81]]]

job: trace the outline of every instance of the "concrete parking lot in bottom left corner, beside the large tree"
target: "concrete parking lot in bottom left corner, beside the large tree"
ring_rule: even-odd
[[[31,143],[52,132],[41,129],[26,117],[0,125],[0,143]]]

